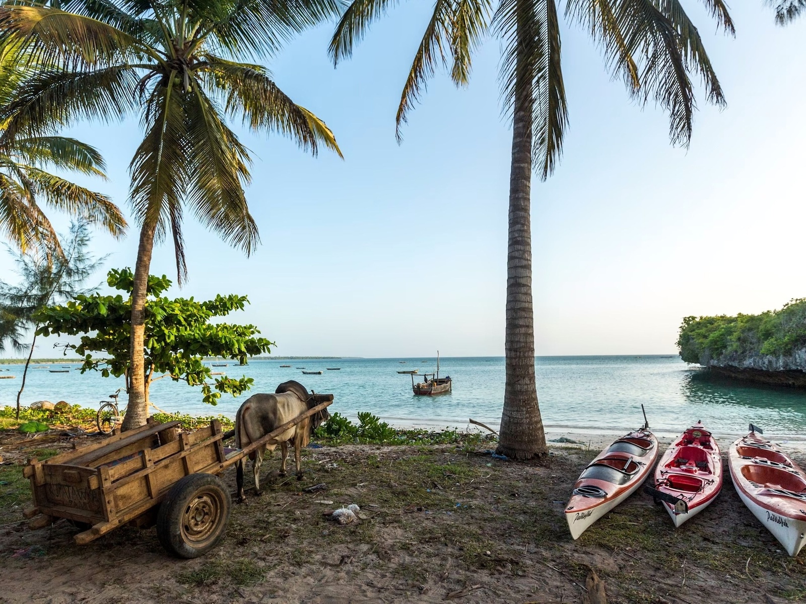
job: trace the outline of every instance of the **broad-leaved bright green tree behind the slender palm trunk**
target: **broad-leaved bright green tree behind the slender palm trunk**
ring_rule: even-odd
[[[127,392],[131,393],[137,379],[131,372],[129,348],[135,275],[128,268],[113,269],[106,283],[110,288],[125,292],[126,296],[79,295],[67,304],[44,308],[36,313],[36,321],[41,324],[37,333],[42,336],[81,335],[80,343],[64,345],[64,353],[75,350],[84,357],[82,373],[100,370],[104,377],[125,376]],[[169,287],[171,281],[165,275],[148,276],[144,349],[147,371],[142,384],[146,401],[151,384],[165,376],[175,382],[181,380],[190,386],[201,386],[204,402],[212,405],[218,402],[222,392],[235,396],[249,390],[253,380],[246,376],[240,379],[224,376],[210,384],[210,366],[202,362],[205,357],[217,356],[238,359],[245,364],[247,357],[270,352],[273,342],[255,337],[260,331],[254,325],[210,323],[214,316],[243,310],[247,297],[219,295],[206,302],[193,298],[171,300],[161,296]],[[93,353],[98,352],[104,354],[94,357]]]

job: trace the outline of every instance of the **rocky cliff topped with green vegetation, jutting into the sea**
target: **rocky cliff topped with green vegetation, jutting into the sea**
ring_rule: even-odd
[[[687,316],[677,345],[717,375],[806,387],[806,298],[758,315]]]

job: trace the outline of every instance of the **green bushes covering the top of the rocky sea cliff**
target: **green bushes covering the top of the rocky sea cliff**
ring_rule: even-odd
[[[680,357],[691,363],[734,353],[791,354],[804,345],[806,299],[758,315],[687,316],[677,338]]]

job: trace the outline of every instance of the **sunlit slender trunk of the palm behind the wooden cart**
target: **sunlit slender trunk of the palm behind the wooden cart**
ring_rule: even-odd
[[[146,388],[145,347],[146,297],[148,271],[154,251],[156,220],[143,223],[135,264],[135,283],[131,290],[131,359],[129,362],[129,402],[123,418],[123,432],[139,428],[148,418],[148,391]]]

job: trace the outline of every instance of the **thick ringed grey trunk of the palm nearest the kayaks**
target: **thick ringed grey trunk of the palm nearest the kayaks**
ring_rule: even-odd
[[[519,65],[513,110],[512,168],[509,172],[506,385],[500,440],[496,449],[498,453],[515,459],[530,459],[548,453],[534,380],[530,222],[533,105],[531,75],[529,70]]]

